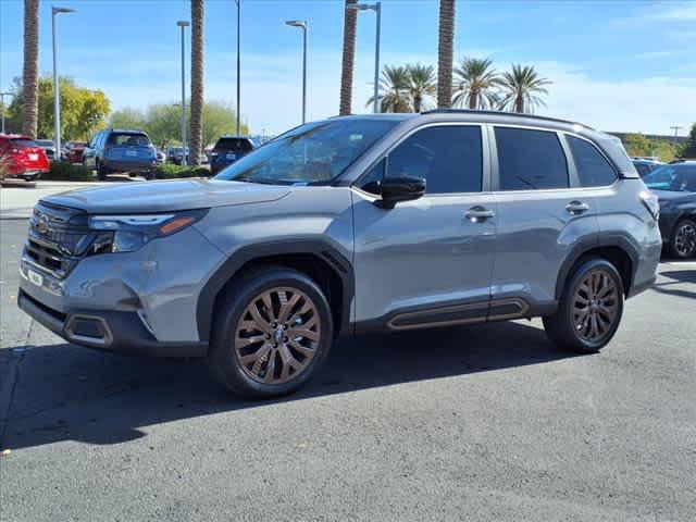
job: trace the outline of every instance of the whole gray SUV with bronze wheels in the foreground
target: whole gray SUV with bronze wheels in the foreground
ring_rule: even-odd
[[[207,357],[257,397],[366,332],[540,316],[559,347],[594,352],[655,281],[658,212],[619,140],[580,124],[334,117],[213,179],[41,199],[18,304],[78,345]]]

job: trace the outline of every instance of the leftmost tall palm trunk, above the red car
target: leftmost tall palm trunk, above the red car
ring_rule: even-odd
[[[24,120],[22,134],[36,138],[39,113],[39,0],[24,0]]]

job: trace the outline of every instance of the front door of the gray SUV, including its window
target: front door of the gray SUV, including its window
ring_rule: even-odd
[[[352,190],[355,320],[391,330],[483,321],[490,296],[496,201],[480,125],[418,129]],[[383,176],[426,182],[393,209],[374,204]],[[375,183],[376,182],[376,183]]]

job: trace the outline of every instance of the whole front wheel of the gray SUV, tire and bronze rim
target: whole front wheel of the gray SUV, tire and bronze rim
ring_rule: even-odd
[[[219,298],[209,362],[227,389],[247,397],[286,395],[319,370],[333,344],[328,301],[304,274],[264,268]]]

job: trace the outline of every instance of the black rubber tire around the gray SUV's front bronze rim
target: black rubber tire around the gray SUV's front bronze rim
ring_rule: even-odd
[[[288,377],[287,382],[269,384],[260,382],[259,378],[261,377],[259,375],[256,378],[250,375],[254,371],[256,363],[251,364],[251,369],[249,364],[246,368],[243,365],[240,361],[243,355],[237,349],[236,339],[240,321],[246,318],[245,322],[248,322],[250,316],[248,315],[249,307],[254,306],[254,302],[262,302],[261,295],[273,293],[277,288],[296,289],[309,298],[309,302],[313,304],[321,325],[321,335],[319,340],[313,344],[311,359],[308,358],[309,360],[306,360],[306,365],[301,371],[294,373],[293,376]],[[316,374],[333,345],[333,320],[326,297],[314,281],[295,270],[284,266],[264,266],[249,271],[220,296],[217,303],[219,308],[215,311],[216,316],[213,324],[208,362],[213,377],[222,386],[237,395],[249,398],[271,398],[297,390]],[[277,301],[274,301],[274,303],[277,303]],[[261,331],[259,332],[264,335]],[[287,338],[278,339],[270,335],[265,339],[270,340],[260,340],[259,343],[262,343],[262,346],[252,351],[252,353],[256,356],[264,349],[270,350],[265,351],[266,355],[261,358],[263,362],[260,363],[258,370],[258,372],[262,372],[265,365],[268,380],[268,368],[271,366],[269,359],[273,358],[275,361],[272,373],[283,370],[283,359],[279,353],[283,348],[271,348],[273,341],[277,340],[286,350],[291,341],[285,345],[283,340],[287,341]],[[298,352],[293,355],[297,357]],[[299,357],[301,358],[302,356]],[[279,368],[278,363],[281,363]],[[283,377],[282,373],[279,377]],[[271,378],[273,380],[274,375]]]

